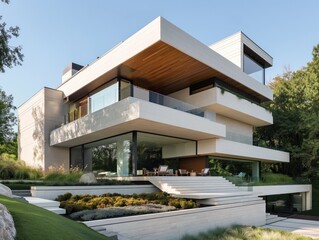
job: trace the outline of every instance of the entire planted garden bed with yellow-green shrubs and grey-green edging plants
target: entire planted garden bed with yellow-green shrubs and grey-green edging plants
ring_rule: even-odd
[[[133,195],[107,193],[100,196],[66,193],[56,201],[60,202],[60,207],[66,210],[70,218],[81,221],[199,207],[193,200],[174,198],[164,192]]]

